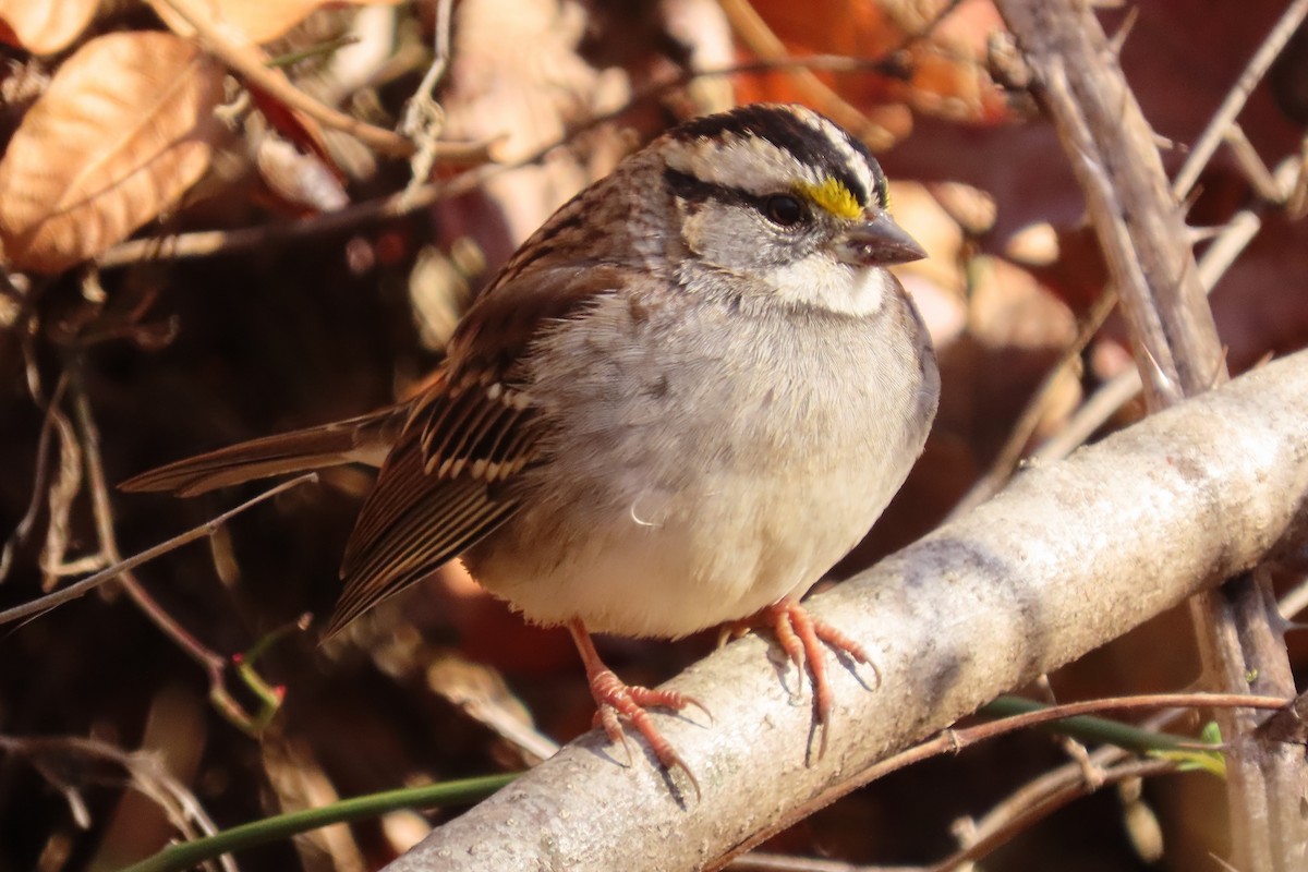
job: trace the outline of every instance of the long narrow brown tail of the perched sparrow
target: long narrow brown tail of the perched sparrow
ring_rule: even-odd
[[[251,439],[143,472],[122,490],[165,490],[194,497],[255,478],[322,469],[344,463],[382,465],[408,418],[407,405],[357,418]]]

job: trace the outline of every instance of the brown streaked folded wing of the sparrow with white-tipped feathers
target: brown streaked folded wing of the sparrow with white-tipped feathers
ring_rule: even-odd
[[[579,316],[623,272],[536,268],[489,288],[450,343],[446,377],[412,401],[399,443],[345,546],[336,633],[421,580],[502,524],[518,506],[511,480],[535,458],[540,420],[518,360],[544,324]]]

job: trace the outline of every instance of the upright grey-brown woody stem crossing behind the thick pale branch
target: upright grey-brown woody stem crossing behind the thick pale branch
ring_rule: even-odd
[[[1213,314],[1185,244],[1177,199],[1167,186],[1152,131],[1097,21],[1071,0],[1001,0],[998,7],[1036,76],[1036,93],[1086,193],[1133,328],[1150,409],[1226,380]],[[1257,75],[1254,71],[1254,81]],[[1237,89],[1248,88],[1247,75]],[[1237,109],[1241,102],[1228,98],[1227,105]],[[1224,120],[1214,124],[1219,139],[1233,115],[1220,118]],[[1176,187],[1184,190],[1185,178]],[[1196,596],[1192,616],[1205,675],[1218,686],[1252,692],[1250,676],[1257,676],[1260,692],[1294,696],[1266,586],[1254,575]],[[1233,743],[1230,795],[1236,865],[1301,868],[1308,850],[1308,820],[1299,808],[1308,795],[1301,754],[1287,746],[1258,745],[1250,736],[1257,724],[1252,711],[1226,713],[1220,722]]]

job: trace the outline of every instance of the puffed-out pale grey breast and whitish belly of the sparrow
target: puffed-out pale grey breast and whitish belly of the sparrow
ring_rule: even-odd
[[[906,343],[887,356],[849,320],[816,349],[785,324],[697,327],[661,336],[661,356],[687,343],[671,370],[640,324],[613,331],[621,348],[559,349],[565,373],[538,388],[573,412],[549,471],[466,556],[527,618],[678,637],[746,617],[803,595],[903,484],[937,394]]]

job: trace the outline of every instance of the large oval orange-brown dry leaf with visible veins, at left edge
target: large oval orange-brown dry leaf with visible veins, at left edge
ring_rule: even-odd
[[[157,217],[209,166],[222,68],[167,33],[77,50],[0,161],[5,260],[60,272]]]

